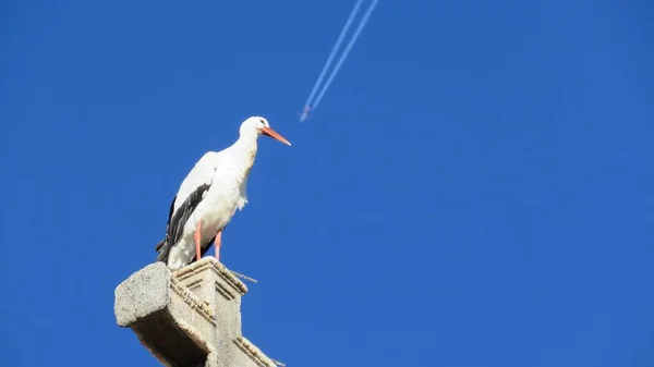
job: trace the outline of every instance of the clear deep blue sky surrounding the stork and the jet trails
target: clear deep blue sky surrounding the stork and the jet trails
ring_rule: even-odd
[[[382,0],[301,124],[352,5],[2,2],[2,360],[158,366],[113,290],[264,115],[221,260],[270,357],[654,364],[652,4]]]

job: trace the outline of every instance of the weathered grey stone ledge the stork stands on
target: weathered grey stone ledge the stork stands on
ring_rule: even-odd
[[[146,266],[116,289],[120,327],[170,367],[272,367],[241,332],[241,297],[247,288],[214,257],[171,273]]]

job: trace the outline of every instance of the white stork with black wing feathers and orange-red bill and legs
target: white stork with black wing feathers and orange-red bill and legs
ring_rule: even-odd
[[[206,152],[182,182],[170,204],[166,238],[156,246],[157,261],[179,269],[216,247],[220,260],[220,236],[237,209],[247,203],[247,176],[254,164],[259,135],[291,145],[270,129],[264,118],[243,121],[239,139],[221,151]],[[195,255],[195,259],[194,256]]]

